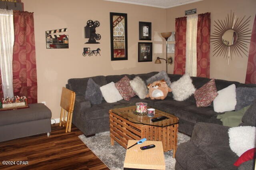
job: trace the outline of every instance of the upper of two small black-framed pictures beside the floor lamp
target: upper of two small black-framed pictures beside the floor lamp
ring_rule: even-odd
[[[139,40],[151,40],[151,22],[139,22]]]

